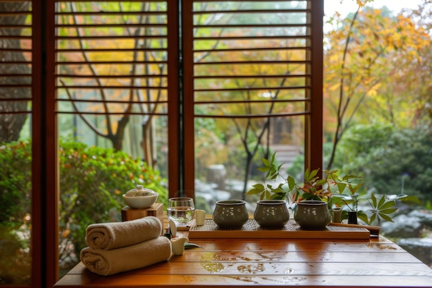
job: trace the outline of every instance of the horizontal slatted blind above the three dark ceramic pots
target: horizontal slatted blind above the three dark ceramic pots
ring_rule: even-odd
[[[308,1],[194,1],[195,117],[304,115]]]

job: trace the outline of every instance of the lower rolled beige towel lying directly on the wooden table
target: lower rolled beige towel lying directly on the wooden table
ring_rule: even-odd
[[[129,247],[112,250],[81,250],[81,261],[92,271],[102,276],[130,271],[168,260],[171,256],[170,240],[164,236]]]

